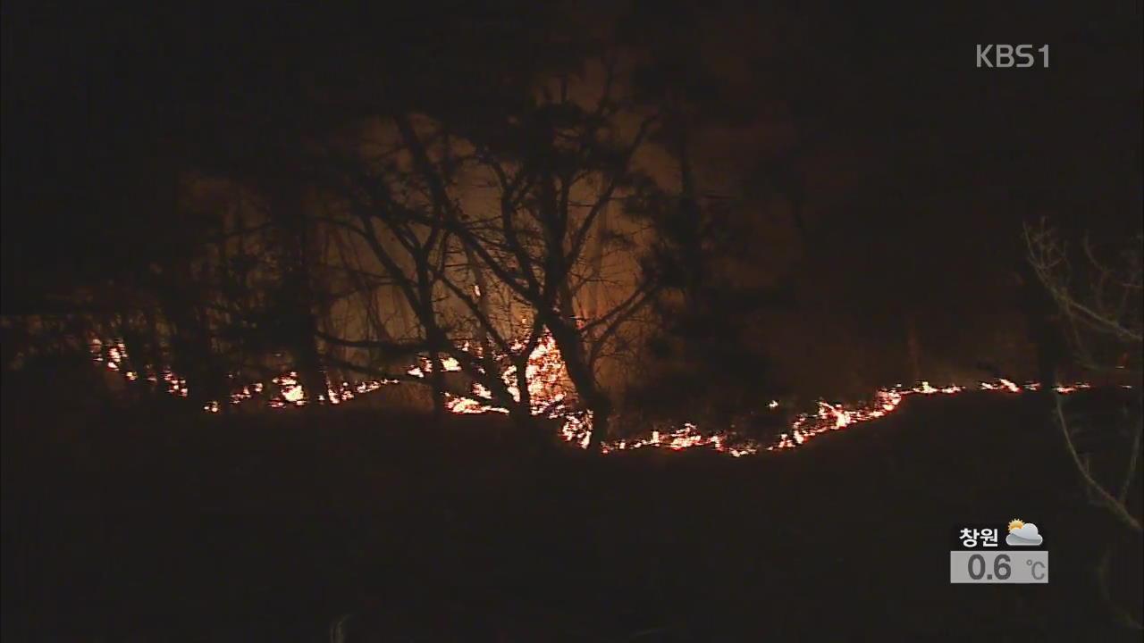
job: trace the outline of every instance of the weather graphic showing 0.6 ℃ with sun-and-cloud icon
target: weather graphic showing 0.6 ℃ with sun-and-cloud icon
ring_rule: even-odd
[[[1049,550],[1034,523],[958,525],[950,546],[950,582],[1048,584]]]

